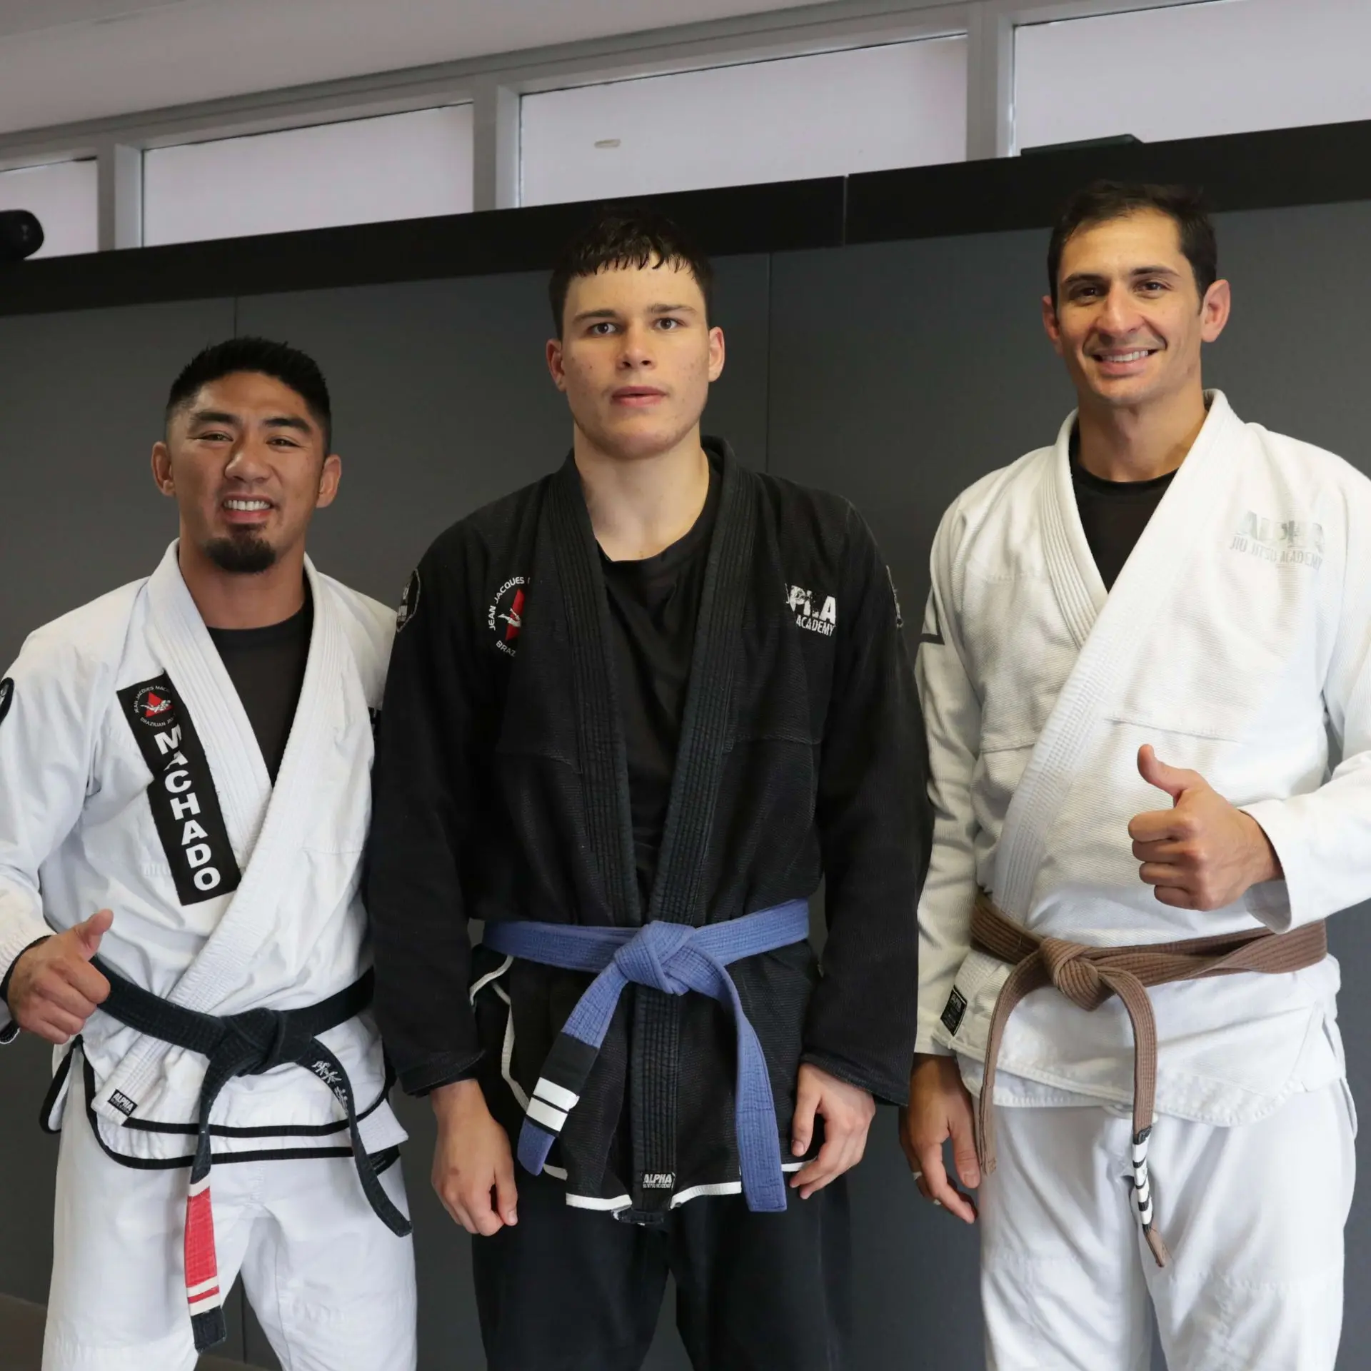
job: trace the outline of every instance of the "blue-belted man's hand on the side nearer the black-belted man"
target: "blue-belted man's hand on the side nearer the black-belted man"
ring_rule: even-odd
[[[432,1093],[437,1117],[433,1189],[443,1208],[468,1233],[488,1238],[518,1223],[510,1139],[485,1106],[474,1080],[455,1080]],[[494,1193],[494,1200],[492,1200]]]

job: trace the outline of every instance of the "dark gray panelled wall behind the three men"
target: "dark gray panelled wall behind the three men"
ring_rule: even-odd
[[[1294,432],[1371,469],[1359,422],[1359,363],[1371,308],[1364,243],[1371,206],[1224,217],[1235,281],[1212,384],[1239,414]],[[927,591],[927,548],[947,502],[982,473],[1052,439],[1071,395],[1042,339],[1045,234],[986,234],[720,263],[729,359],[707,426],[769,470],[849,495],[876,529],[906,617]],[[1363,308],[1367,306],[1368,308]],[[451,520],[540,474],[568,444],[542,365],[540,276],[367,287],[37,318],[0,318],[0,472],[11,517],[0,537],[0,658],[23,633],[119,580],[145,573],[174,532],[147,452],[177,366],[199,345],[263,332],[315,352],[333,385],[343,494],[313,553],[393,600],[409,568]],[[1334,923],[1345,978],[1371,979],[1359,912]],[[1344,1004],[1353,1089],[1371,1073],[1367,997]],[[51,1257],[55,1148],[33,1123],[45,1053],[0,1053],[0,1291],[41,1300]],[[428,1189],[432,1127],[411,1130],[425,1368],[483,1366],[469,1239]],[[858,1366],[980,1364],[975,1234],[917,1202],[883,1109],[853,1176]],[[1371,1276],[1371,1205],[1357,1202],[1348,1289]],[[664,1330],[669,1311],[664,1311]],[[1371,1309],[1349,1301],[1344,1357],[1371,1339]],[[234,1350],[267,1364],[244,1320]],[[653,1371],[683,1371],[668,1331]]]

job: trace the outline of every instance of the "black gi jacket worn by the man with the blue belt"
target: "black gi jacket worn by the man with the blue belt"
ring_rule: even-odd
[[[808,943],[731,968],[783,1158],[801,1061],[908,1093],[931,816],[890,574],[849,503],[706,443],[723,491],[647,910],[574,462],[450,528],[406,590],[373,773],[376,1013],[407,1091],[474,1069],[511,1139],[590,978],[473,953],[472,919],[703,924],[827,879],[823,975]],[[733,1063],[714,1001],[631,987],[550,1158],[568,1193],[650,1216],[736,1190]]]

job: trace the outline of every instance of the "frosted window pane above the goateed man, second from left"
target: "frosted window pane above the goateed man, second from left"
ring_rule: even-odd
[[[156,148],[143,241],[191,243],[472,208],[472,107]]]

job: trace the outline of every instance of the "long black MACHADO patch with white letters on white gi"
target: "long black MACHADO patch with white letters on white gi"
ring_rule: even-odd
[[[148,802],[177,898],[199,905],[237,890],[243,877],[210,762],[171,677],[129,686],[119,691],[119,703],[152,772]]]

